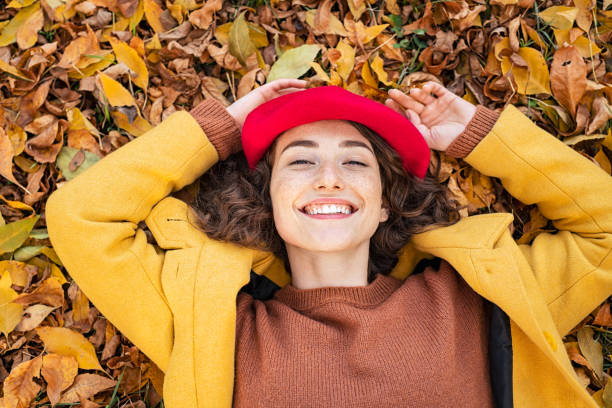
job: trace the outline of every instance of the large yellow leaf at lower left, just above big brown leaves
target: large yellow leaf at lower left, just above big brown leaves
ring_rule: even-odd
[[[84,370],[102,370],[96,349],[81,333],[65,327],[37,327],[36,333],[41,338],[48,352],[63,356],[73,356]]]

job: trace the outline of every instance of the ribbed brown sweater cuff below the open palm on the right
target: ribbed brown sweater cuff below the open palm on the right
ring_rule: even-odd
[[[499,118],[498,112],[478,105],[474,117],[463,132],[448,146],[445,153],[456,158],[466,157],[489,134],[497,118]]]

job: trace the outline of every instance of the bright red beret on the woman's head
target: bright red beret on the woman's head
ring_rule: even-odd
[[[242,127],[242,148],[251,169],[285,130],[326,119],[359,122],[378,133],[402,157],[408,173],[423,179],[429,146],[405,116],[339,86],[321,86],[281,95],[253,109]]]

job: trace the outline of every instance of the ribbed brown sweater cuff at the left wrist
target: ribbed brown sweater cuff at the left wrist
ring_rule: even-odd
[[[217,149],[220,160],[242,149],[240,127],[221,102],[214,98],[205,99],[189,113]]]

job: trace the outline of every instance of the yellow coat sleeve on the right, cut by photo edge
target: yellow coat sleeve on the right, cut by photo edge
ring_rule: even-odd
[[[612,177],[513,106],[465,160],[559,230],[520,249],[565,335],[612,294]]]

